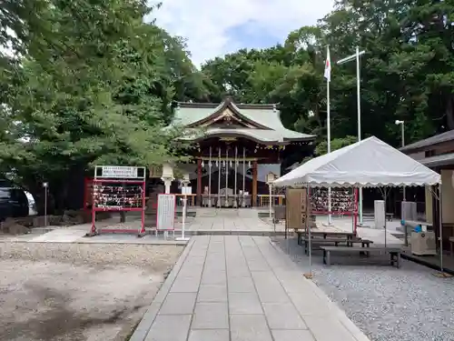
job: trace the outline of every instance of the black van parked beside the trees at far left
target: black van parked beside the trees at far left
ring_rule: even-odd
[[[28,212],[25,191],[6,181],[0,181],[0,221],[7,217],[28,216]]]

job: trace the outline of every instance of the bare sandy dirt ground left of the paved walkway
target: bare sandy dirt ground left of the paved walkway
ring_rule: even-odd
[[[0,243],[0,340],[123,341],[182,250]]]

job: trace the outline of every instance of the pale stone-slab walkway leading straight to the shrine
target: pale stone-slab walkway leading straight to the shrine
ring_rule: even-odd
[[[194,236],[131,341],[367,341],[265,236]]]

